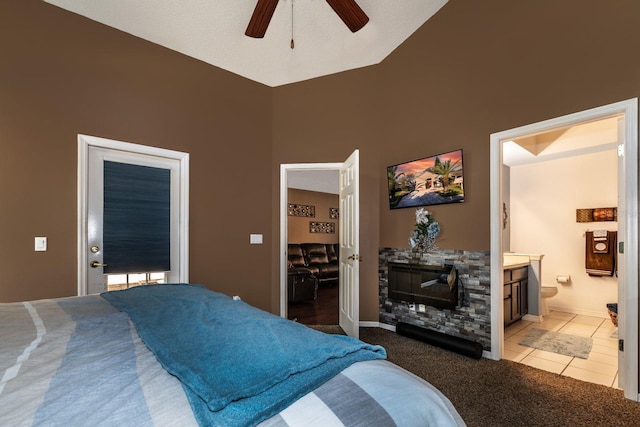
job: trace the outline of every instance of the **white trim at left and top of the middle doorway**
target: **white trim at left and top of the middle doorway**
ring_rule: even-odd
[[[343,163],[293,163],[280,165],[280,316],[287,318],[287,243],[289,242],[287,172],[337,171]]]

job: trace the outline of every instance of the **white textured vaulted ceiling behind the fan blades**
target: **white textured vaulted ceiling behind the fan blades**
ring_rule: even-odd
[[[370,20],[356,33],[325,0],[280,0],[263,39],[244,35],[256,0],[45,1],[248,79],[280,86],[381,62],[448,0],[357,0]]]

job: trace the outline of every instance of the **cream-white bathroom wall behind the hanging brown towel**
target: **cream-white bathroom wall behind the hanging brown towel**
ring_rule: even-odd
[[[542,284],[556,285],[549,308],[608,317],[618,301],[614,277],[585,272],[585,231],[617,230],[617,222],[576,222],[576,209],[617,206],[615,150],[510,168],[511,251],[544,254]],[[560,274],[571,282],[557,283]]]

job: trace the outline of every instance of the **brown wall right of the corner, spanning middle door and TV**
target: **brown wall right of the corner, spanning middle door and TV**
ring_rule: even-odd
[[[386,166],[462,148],[465,202],[429,208],[438,245],[489,250],[490,134],[637,97],[638,16],[635,1],[450,0],[381,64],[276,89],[274,167],[361,150],[361,320],[378,318],[378,247],[407,247],[415,221],[389,210]]]

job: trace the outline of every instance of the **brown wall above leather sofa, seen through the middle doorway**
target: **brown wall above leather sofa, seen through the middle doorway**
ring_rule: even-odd
[[[338,218],[329,217],[329,208],[338,208],[340,197],[337,194],[321,193],[290,188],[287,194],[288,203],[313,206],[315,217],[287,217],[287,237],[289,243],[338,243],[340,240],[340,224]],[[309,222],[332,222],[335,233],[311,233]]]

